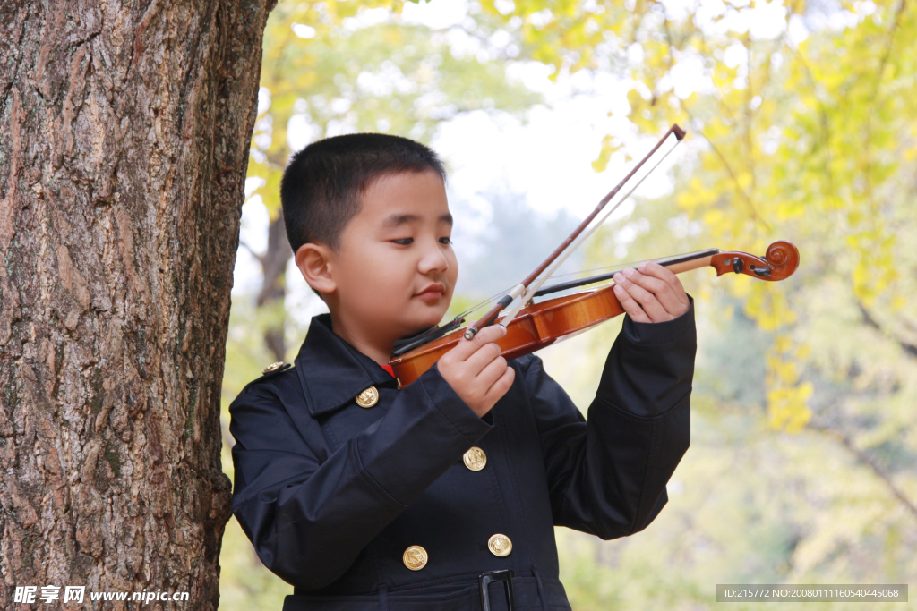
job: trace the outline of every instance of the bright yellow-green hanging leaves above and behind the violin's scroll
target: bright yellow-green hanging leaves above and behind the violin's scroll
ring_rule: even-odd
[[[789,21],[805,5],[787,9]],[[741,10],[722,5],[719,18]],[[801,246],[802,268],[790,282],[730,286],[746,315],[774,333],[768,409],[771,423],[788,431],[812,418],[812,381],[800,368],[812,354],[804,292],[843,279],[851,291],[838,299],[875,309],[901,331],[915,321],[912,309],[910,317],[901,311],[912,288],[901,271],[913,268],[913,249],[898,236],[915,229],[906,210],[917,105],[901,93],[914,83],[905,41],[917,10],[904,3],[880,3],[871,16],[859,4],[828,10],[850,27],[813,31],[797,45],[786,33],[712,34],[697,27],[700,7],[671,16],[654,5],[647,16],[656,25],[644,20],[636,30],[644,60],[630,68],[639,83],[629,95],[632,120],[652,132],[680,121],[701,140],[692,176],[679,183],[679,206],[703,220],[714,244],[755,253],[776,238]],[[692,59],[712,87],[679,97],[670,75]]]

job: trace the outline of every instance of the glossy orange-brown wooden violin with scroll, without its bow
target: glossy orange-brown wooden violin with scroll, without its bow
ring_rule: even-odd
[[[710,248],[686,255],[657,260],[663,267],[680,274],[691,269],[713,267],[717,277],[726,273],[745,274],[752,278],[774,282],[789,278],[799,267],[800,254],[790,242],[774,242],[768,246],[764,257],[749,255],[743,252],[725,252],[719,248]],[[635,266],[634,266],[635,267]],[[573,288],[582,283],[598,282],[612,278],[617,269],[602,276],[593,276],[552,286],[536,291],[535,297]],[[506,360],[529,355],[560,340],[587,331],[592,326],[605,322],[624,313],[621,302],[614,296],[614,283],[599,289],[590,289],[565,295],[555,299],[530,303],[516,314],[506,325],[506,334],[497,340],[500,354]],[[502,320],[497,320],[502,323]],[[389,361],[398,387],[402,388],[420,377],[433,366],[439,357],[445,355],[464,336],[459,329],[436,340],[420,346],[411,352],[396,356]]]

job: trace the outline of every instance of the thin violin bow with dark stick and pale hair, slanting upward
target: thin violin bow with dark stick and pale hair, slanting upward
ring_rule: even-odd
[[[653,166],[653,168],[648,172],[646,172],[646,176],[640,179],[633,189],[628,191],[623,198],[615,203],[614,206],[602,216],[602,219],[600,219],[598,223],[594,224],[588,232],[583,234],[583,231],[586,229],[586,227],[589,226],[592,220],[602,212],[602,209],[605,207],[605,205],[610,202],[615,195],[618,194],[618,191],[621,191],[621,189],[624,188],[624,185],[628,180],[634,178],[634,175],[643,167],[646,161],[656,154],[656,151],[659,149],[659,147],[661,147],[662,144],[668,139],[668,136],[671,136],[672,134],[674,134],[676,137],[675,145],[668,149],[666,154],[657,161],[656,165]],[[570,256],[570,254],[573,253],[577,248],[579,248],[580,245],[586,239],[588,239],[589,236],[592,235],[600,225],[602,225],[602,223],[604,223],[605,219],[607,219],[617,209],[617,207],[621,205],[622,202],[630,197],[631,193],[633,193],[634,190],[639,187],[644,180],[646,180],[646,177],[649,176],[654,169],[657,169],[659,164],[668,157],[668,154],[671,153],[676,146],[678,146],[679,142],[681,142],[681,139],[685,136],[685,134],[685,130],[681,129],[678,124],[672,124],[672,126],[668,128],[668,131],[665,133],[665,135],[662,136],[656,143],[656,146],[653,147],[648,153],[646,153],[646,157],[640,159],[640,162],[636,164],[634,169],[631,169],[631,171],[627,173],[627,176],[625,176],[621,182],[615,185],[612,191],[609,191],[608,194],[602,198],[602,201],[596,205],[595,209],[589,214],[589,216],[583,219],[582,223],[580,223],[580,226],[574,229],[573,233],[571,233],[567,239],[558,245],[554,252],[547,256],[547,259],[545,259],[541,265],[535,268],[535,271],[529,274],[522,282],[514,286],[513,289],[510,289],[510,291],[504,295],[503,298],[497,301],[491,311],[488,311],[486,314],[484,314],[481,319],[477,322],[474,322],[474,324],[469,325],[468,329],[465,330],[465,339],[473,339],[474,336],[479,331],[481,331],[481,329],[492,324],[500,312],[503,311],[508,305],[510,305],[513,300],[515,300],[517,297],[522,297],[523,299],[520,299],[511,310],[506,312],[506,314],[503,316],[503,319],[500,321],[500,324],[505,327],[507,324],[512,322],[512,320],[515,318],[515,315],[518,314],[525,305],[525,295],[530,292],[537,291],[541,287],[545,280],[549,278],[550,275],[554,273],[554,271],[560,267],[560,265],[563,264],[565,260],[567,260],[567,257]],[[548,267],[550,268],[548,269]],[[546,269],[547,274],[542,276],[542,272],[544,272]],[[539,277],[541,278],[539,279]]]

